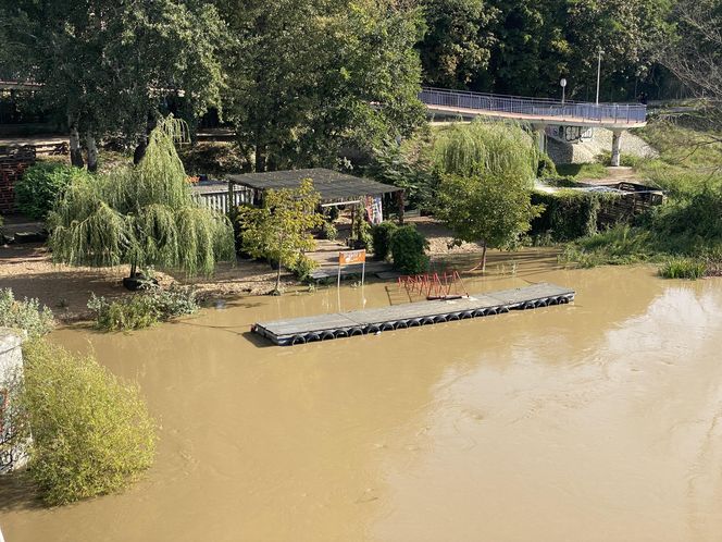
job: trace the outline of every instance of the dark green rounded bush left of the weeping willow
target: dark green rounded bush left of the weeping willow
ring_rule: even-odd
[[[35,220],[45,220],[73,180],[88,176],[85,170],[57,162],[32,165],[15,183],[17,209]]]

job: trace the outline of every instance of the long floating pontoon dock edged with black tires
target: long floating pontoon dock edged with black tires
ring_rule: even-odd
[[[542,283],[452,300],[409,303],[378,309],[260,322],[251,330],[279,346],[289,346],[501,315],[510,310],[535,309],[567,304],[573,299],[573,290]]]

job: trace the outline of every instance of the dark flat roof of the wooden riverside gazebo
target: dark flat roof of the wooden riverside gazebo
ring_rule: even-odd
[[[248,186],[257,190],[298,188],[301,181],[311,178],[313,187],[321,195],[323,201],[345,201],[363,196],[378,196],[401,188],[390,186],[370,178],[346,175],[333,170],[321,168],[312,170],[272,171],[269,173],[246,173],[244,175],[228,175],[234,184]]]

